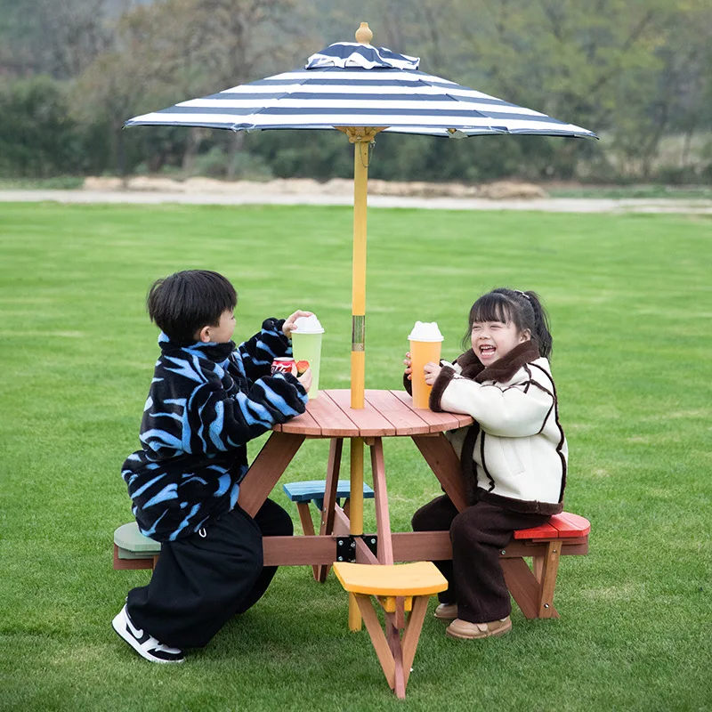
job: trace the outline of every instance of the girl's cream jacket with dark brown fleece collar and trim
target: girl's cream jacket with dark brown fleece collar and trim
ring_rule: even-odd
[[[562,511],[568,447],[548,360],[525,342],[484,368],[472,350],[442,364],[430,408],[466,413],[474,425],[448,433],[468,498],[518,512]]]

